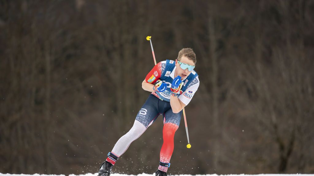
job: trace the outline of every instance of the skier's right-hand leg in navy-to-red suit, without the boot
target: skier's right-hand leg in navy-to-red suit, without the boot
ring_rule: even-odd
[[[179,128],[181,121],[182,111],[179,113],[173,113],[172,109],[165,112],[164,115],[164,128],[163,128],[163,140],[160,150],[160,162],[169,163],[174,148],[174,136],[176,130]],[[168,167],[159,165],[159,170],[167,172]]]

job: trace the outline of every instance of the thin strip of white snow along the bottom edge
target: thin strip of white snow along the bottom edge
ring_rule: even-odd
[[[152,174],[142,173],[138,174],[137,176],[153,176]],[[8,173],[0,173],[0,176],[66,176],[66,175],[44,175],[44,174],[8,174]],[[97,173],[86,173],[81,175],[74,175],[70,174],[68,176],[97,176]],[[112,173],[110,176],[135,176],[135,175],[127,175],[127,174],[119,174],[119,173]],[[176,176],[192,176],[192,175],[176,175]],[[207,175],[195,175],[195,176],[218,176],[217,174],[207,174]],[[223,175],[221,175],[223,176]],[[257,174],[257,175],[246,175],[246,174],[230,174],[225,176],[314,176],[314,174]]]

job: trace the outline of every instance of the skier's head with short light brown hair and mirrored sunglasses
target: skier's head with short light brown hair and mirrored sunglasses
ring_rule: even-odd
[[[182,80],[187,78],[192,72],[188,69],[182,69],[180,63],[195,66],[196,55],[191,48],[183,48],[179,51],[178,58],[176,59],[176,75],[181,76]]]

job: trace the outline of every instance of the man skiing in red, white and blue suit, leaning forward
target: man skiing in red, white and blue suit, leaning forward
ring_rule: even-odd
[[[198,74],[193,70],[195,63],[196,56],[193,50],[183,48],[175,61],[165,60],[154,66],[142,82],[142,88],[152,93],[138,112],[133,127],[116,142],[112,151],[108,153],[108,158],[100,166],[98,176],[109,176],[112,166],[119,157],[159,115],[163,115],[164,127],[163,145],[156,176],[167,175],[174,148],[174,135],[181,121],[182,109],[187,106],[198,90]]]

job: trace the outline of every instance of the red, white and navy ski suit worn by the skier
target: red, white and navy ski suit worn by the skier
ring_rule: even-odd
[[[181,121],[182,111],[179,113],[173,113],[170,105],[171,96],[171,83],[174,79],[174,73],[176,70],[175,61],[165,60],[159,62],[154,68],[147,74],[145,81],[151,84],[161,80],[168,84],[166,91],[164,92],[152,92],[142,108],[138,112],[133,127],[122,136],[115,144],[111,153],[114,158],[108,157],[107,161],[115,164],[116,158],[119,158],[129,147],[129,145],[156,120],[159,115],[163,115],[164,127],[163,127],[163,145],[160,150],[160,162],[169,163],[174,148],[174,134],[178,129]],[[187,105],[199,86],[198,74],[193,70],[191,74],[185,79],[183,87],[181,88],[178,98],[181,102]],[[167,172],[168,167],[159,165],[159,170]]]

